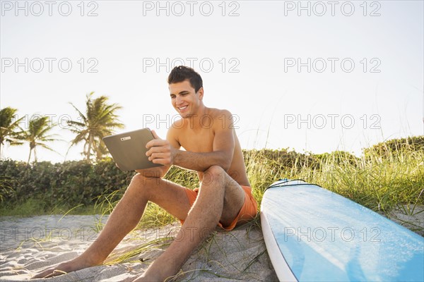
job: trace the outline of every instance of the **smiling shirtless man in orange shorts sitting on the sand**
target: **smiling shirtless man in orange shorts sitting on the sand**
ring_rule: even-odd
[[[192,68],[175,67],[168,84],[172,106],[182,118],[170,126],[166,140],[152,131],[155,139],[146,145],[149,159],[163,166],[137,171],[98,239],[83,254],[34,278],[102,264],[139,223],[148,201],[182,221],[177,238],[184,239],[175,240],[136,281],[164,281],[177,274],[217,225],[229,231],[256,216],[257,202],[232,128],[232,115],[204,106],[203,82]],[[172,165],[197,171],[201,187],[189,190],[162,179]]]

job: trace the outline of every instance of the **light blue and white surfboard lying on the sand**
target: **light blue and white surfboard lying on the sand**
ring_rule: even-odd
[[[280,281],[424,281],[424,238],[302,180],[264,192],[261,226]]]

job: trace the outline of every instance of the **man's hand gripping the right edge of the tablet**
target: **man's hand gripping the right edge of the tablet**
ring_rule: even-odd
[[[174,164],[176,149],[170,145],[169,141],[160,139],[155,130],[152,130],[152,134],[155,139],[146,144],[148,160],[152,161],[153,164],[163,164],[165,166]]]

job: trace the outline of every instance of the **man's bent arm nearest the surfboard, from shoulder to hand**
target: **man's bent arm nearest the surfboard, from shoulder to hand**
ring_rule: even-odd
[[[231,118],[230,112],[225,111],[225,116]],[[228,171],[235,149],[234,130],[231,125],[232,120],[230,126],[220,126],[218,122],[214,123],[215,137],[213,138],[212,152],[187,152],[172,147],[167,140],[152,140],[149,142],[151,144],[148,143],[151,149],[148,150],[147,155],[155,164],[175,164],[194,171],[206,171],[215,165]]]

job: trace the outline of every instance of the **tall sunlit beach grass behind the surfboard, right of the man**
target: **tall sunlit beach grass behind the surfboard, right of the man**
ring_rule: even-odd
[[[299,155],[292,166],[284,167],[266,159],[263,151],[255,152],[247,173],[258,202],[266,187],[288,178],[320,185],[386,216],[393,209],[413,215],[424,204],[424,150],[388,150],[382,156],[370,149],[361,157],[333,152],[312,164],[310,157]]]

